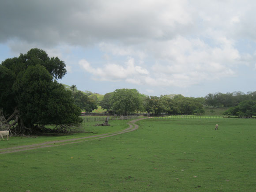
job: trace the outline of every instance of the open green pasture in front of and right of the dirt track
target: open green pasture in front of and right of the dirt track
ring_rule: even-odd
[[[1,190],[254,192],[255,123],[147,119],[122,135],[0,154]]]

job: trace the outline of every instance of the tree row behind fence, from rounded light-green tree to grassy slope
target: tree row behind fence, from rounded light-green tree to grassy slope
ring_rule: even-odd
[[[204,113],[203,105],[198,98],[187,98],[182,95],[175,95],[172,99],[167,96],[146,96],[136,89],[118,89],[107,93],[100,105],[103,109],[124,115],[134,112],[155,115]]]

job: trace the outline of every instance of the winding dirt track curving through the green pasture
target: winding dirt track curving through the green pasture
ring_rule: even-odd
[[[138,121],[138,120],[143,120],[143,119],[135,119],[135,120],[128,122],[129,128],[124,129],[119,132],[114,132],[114,133],[109,133],[109,134],[106,133],[106,134],[96,135],[96,136],[80,137],[80,138],[75,138],[75,139],[48,141],[45,143],[23,145],[23,146],[18,146],[18,147],[4,148],[4,149],[0,149],[0,154],[14,153],[14,152],[19,152],[19,151],[27,151],[27,150],[33,150],[33,149],[39,149],[39,148],[45,148],[45,147],[56,147],[56,146],[60,146],[60,145],[80,143],[80,142],[90,141],[90,140],[94,140],[94,139],[102,139],[105,137],[116,136],[116,135],[120,135],[123,133],[132,132],[132,131],[138,129],[139,126],[137,124],[135,124],[136,121]]]

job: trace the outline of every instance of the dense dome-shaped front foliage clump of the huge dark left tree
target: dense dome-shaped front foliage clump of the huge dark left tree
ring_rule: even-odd
[[[29,66],[13,85],[15,101],[26,127],[34,124],[78,123],[81,111],[75,107],[72,94],[52,81],[41,65]]]

